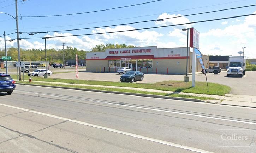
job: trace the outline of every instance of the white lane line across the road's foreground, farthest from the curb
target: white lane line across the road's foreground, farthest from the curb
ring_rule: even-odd
[[[35,114],[44,115],[44,116],[47,116],[47,117],[52,117],[52,118],[56,118],[56,119],[70,121],[70,122],[74,122],[74,123],[77,123],[77,124],[82,124],[82,125],[86,125],[86,126],[90,126],[90,127],[95,127],[95,128],[103,129],[103,130],[106,130],[106,131],[111,131],[111,132],[115,132],[115,133],[119,133],[119,134],[124,134],[124,135],[128,135],[128,136],[135,137],[135,138],[149,140],[149,141],[157,142],[157,143],[160,143],[160,144],[165,144],[165,145],[168,145],[168,146],[178,147],[178,148],[182,148],[182,149],[186,149],[186,150],[190,150],[190,151],[201,152],[201,153],[212,153],[212,152],[205,151],[205,150],[202,150],[202,149],[197,149],[197,148],[193,148],[193,147],[189,147],[189,146],[175,144],[175,143],[168,142],[168,141],[163,141],[163,140],[159,140],[159,139],[155,139],[155,138],[145,137],[145,136],[142,136],[142,135],[133,134],[133,133],[129,133],[129,132],[124,132],[124,131],[120,131],[120,130],[117,130],[117,129],[103,127],[103,126],[90,124],[90,123],[86,123],[86,122],[82,122],[82,121],[72,120],[72,119],[69,119],[69,118],[59,117],[59,116],[56,116],[56,115],[51,115],[51,114],[46,114],[46,113],[42,113],[42,112],[32,111],[32,110],[29,110],[29,109],[24,109],[24,108],[15,107],[15,106],[6,105],[6,104],[1,104],[1,103],[0,103],[0,105],[10,107],[10,108],[20,109],[20,110],[35,113]]]

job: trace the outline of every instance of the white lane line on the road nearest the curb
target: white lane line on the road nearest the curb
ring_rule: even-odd
[[[41,95],[60,97],[60,96],[48,95],[48,94],[41,94]],[[64,98],[64,97],[61,97],[61,98]],[[246,124],[256,125],[256,122],[247,122],[247,121],[239,121],[239,120],[232,120],[232,119],[224,119],[224,118],[210,117],[210,116],[205,116],[205,115],[197,115],[197,114],[190,114],[190,113],[167,111],[167,110],[155,109],[155,108],[147,108],[147,107],[139,107],[139,106],[131,106],[131,105],[120,105],[120,104],[116,104],[116,103],[97,101],[97,100],[89,100],[89,99],[85,99],[85,100],[92,101],[92,102],[99,102],[99,103],[103,103],[103,104],[117,105],[117,106],[122,106],[122,107],[132,107],[132,108],[146,109],[146,110],[150,110],[150,111],[168,112],[168,113],[174,113],[174,114],[182,114],[182,115],[189,115],[189,116],[195,116],[195,117],[210,118],[210,119],[217,119],[217,120],[224,120],[224,121],[231,121],[231,122],[239,122],[239,123],[246,123]]]

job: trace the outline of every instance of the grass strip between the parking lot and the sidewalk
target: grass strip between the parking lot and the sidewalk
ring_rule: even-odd
[[[29,80],[28,75],[24,75],[24,80]],[[17,75],[12,75],[12,78],[16,79]],[[211,94],[211,95],[224,95],[230,92],[230,87],[215,83],[208,83],[209,91],[207,89],[206,82],[196,82],[196,87],[192,87],[192,82],[183,81],[164,81],[157,82],[155,84],[133,84],[125,82],[109,82],[109,81],[90,81],[90,80],[73,80],[73,79],[54,79],[43,77],[32,77],[34,81],[46,81],[46,82],[64,82],[64,83],[78,83],[89,85],[105,85],[105,86],[119,86],[119,87],[133,87],[133,88],[145,88],[145,89],[157,89],[165,91],[197,93],[197,94]],[[127,91],[127,90],[126,90]]]

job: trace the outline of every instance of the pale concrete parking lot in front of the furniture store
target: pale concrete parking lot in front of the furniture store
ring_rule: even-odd
[[[207,73],[208,82],[223,84],[231,87],[230,94],[237,95],[256,95],[256,72],[246,72],[243,78],[239,77],[227,77],[226,71],[221,71],[219,74]],[[91,73],[91,72],[79,72],[80,80],[95,80],[95,81],[113,81],[119,82],[121,75],[115,73]],[[144,74],[143,81],[137,81],[136,83],[156,83],[162,81],[184,81],[185,75],[164,75],[164,74]],[[192,81],[192,75],[190,81]],[[53,74],[52,78],[62,79],[77,79],[75,78],[75,72]],[[204,74],[200,73],[196,75],[196,81],[205,82],[206,78]]]

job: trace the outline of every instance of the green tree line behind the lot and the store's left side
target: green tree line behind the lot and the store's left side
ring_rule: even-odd
[[[135,47],[132,45],[126,44],[100,44],[93,47],[90,51],[79,50],[76,47],[67,46],[64,49],[65,61],[76,58],[76,54],[78,59],[86,59],[87,52],[105,52],[105,49],[110,48],[131,48]],[[5,56],[5,50],[0,49],[0,58]],[[11,56],[11,61],[18,61],[18,49],[15,47],[7,48],[7,56]],[[43,49],[22,49],[20,48],[20,60],[21,61],[45,61],[45,50]],[[46,50],[46,60],[51,61],[52,63],[62,63],[63,61],[63,49],[47,49]]]

